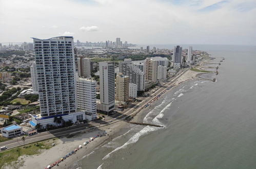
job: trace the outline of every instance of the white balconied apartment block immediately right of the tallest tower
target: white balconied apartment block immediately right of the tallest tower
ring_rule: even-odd
[[[92,119],[96,119],[96,81],[91,78],[78,77],[76,79],[76,97],[77,109],[85,111],[92,116]]]

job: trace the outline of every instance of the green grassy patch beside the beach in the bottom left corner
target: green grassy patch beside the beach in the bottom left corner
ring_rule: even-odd
[[[0,153],[0,168],[2,168],[4,164],[11,164],[12,162],[17,161],[19,156],[40,154],[41,150],[50,149],[53,142],[56,144],[55,139],[51,139],[25,145],[25,148],[21,146],[9,151],[2,152]],[[18,163],[16,164],[18,165]]]

